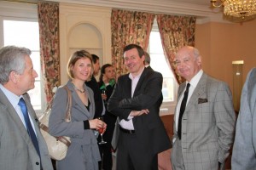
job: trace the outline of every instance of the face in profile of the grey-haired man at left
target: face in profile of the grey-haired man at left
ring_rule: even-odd
[[[19,88],[20,95],[35,88],[35,78],[38,77],[38,73],[33,69],[32,59],[28,55],[25,57],[25,65],[22,74],[15,73],[16,87]]]

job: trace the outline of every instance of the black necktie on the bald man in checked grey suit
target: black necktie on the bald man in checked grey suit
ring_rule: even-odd
[[[188,83],[186,87],[186,91],[184,92],[183,101],[180,105],[180,110],[179,110],[178,124],[177,124],[177,136],[179,139],[181,139],[181,131],[182,131],[181,124],[182,124],[183,113],[186,109],[186,104],[188,100],[189,87],[190,87],[190,84]]]

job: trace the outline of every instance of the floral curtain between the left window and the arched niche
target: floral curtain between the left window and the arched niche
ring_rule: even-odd
[[[49,102],[52,89],[60,86],[59,3],[38,2],[41,68]]]

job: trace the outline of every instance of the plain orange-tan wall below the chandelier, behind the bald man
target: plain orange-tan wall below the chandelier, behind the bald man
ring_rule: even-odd
[[[242,82],[256,66],[256,20],[242,24],[196,25],[195,47],[201,51],[203,69],[227,82],[233,90],[232,61],[244,60]]]

